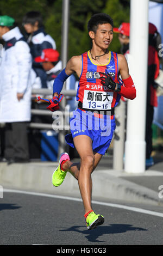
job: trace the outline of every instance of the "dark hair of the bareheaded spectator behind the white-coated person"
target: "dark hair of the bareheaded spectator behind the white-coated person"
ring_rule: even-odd
[[[23,24],[30,23],[31,25],[34,25],[36,21],[39,23],[39,28],[43,26],[42,16],[39,11],[29,11],[23,17]]]

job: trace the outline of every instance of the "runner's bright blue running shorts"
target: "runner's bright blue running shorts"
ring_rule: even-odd
[[[92,139],[94,152],[104,155],[109,148],[115,130],[115,117],[99,115],[95,112],[82,111],[77,108],[70,119],[71,133],[65,136],[66,142],[74,148],[73,138],[87,135]]]

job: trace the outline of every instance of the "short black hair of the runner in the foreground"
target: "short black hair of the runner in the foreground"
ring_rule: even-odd
[[[114,27],[113,20],[108,14],[105,14],[105,13],[94,14],[89,20],[89,22],[87,23],[87,30],[89,32],[93,31],[94,33],[96,33],[98,25],[102,25],[105,23],[109,23],[112,27]]]

